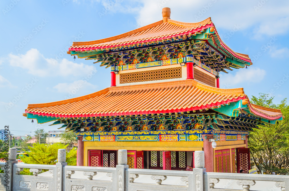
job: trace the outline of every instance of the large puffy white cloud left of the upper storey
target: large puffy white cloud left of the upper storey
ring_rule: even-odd
[[[92,71],[96,72],[94,66],[83,63],[74,63],[67,59],[56,60],[45,58],[37,49],[30,49],[25,55],[8,55],[11,66],[28,70],[29,74],[35,76],[83,76]]]

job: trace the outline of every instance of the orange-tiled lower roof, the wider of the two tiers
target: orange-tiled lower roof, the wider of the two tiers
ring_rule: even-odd
[[[248,99],[242,88],[218,89],[195,80],[109,87],[64,101],[29,104],[26,113],[51,117],[97,117],[188,112],[219,108]],[[282,114],[248,103],[256,116],[277,119]],[[273,117],[273,118],[272,118]]]

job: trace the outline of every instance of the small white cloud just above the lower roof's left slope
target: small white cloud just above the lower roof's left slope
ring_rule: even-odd
[[[61,93],[76,94],[78,91],[83,92],[85,90],[94,90],[97,88],[97,86],[87,82],[86,80],[77,80],[73,83],[59,83],[53,88]]]

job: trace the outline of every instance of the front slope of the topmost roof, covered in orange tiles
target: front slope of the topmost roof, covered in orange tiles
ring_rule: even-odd
[[[73,42],[69,50],[93,50],[150,42],[155,41],[155,39],[162,40],[179,35],[196,33],[212,26],[213,23],[211,18],[207,18],[199,23],[183,23],[171,19],[168,19],[168,22],[163,23],[163,21],[160,20],[156,23],[110,38],[88,42]]]

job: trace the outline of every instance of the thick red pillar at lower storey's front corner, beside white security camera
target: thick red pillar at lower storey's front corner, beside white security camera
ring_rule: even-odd
[[[207,136],[207,138],[205,138],[205,136]],[[202,134],[206,172],[214,172],[214,149],[212,142],[209,142],[209,139],[213,138],[213,136],[213,134]]]

